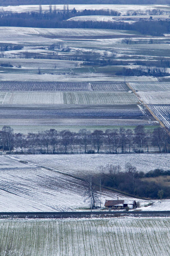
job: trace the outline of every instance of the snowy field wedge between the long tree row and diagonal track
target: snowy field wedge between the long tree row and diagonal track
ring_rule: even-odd
[[[108,164],[119,165],[122,171],[125,170],[126,163],[136,166],[138,172],[148,172],[156,168],[170,169],[170,154],[13,155],[12,158],[48,166],[76,176],[98,173],[101,166]]]

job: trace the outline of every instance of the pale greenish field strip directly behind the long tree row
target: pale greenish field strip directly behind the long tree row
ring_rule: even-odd
[[[115,126],[136,126],[136,125],[154,125],[155,123],[150,122],[148,120],[138,119],[138,118],[130,118],[130,119],[109,119],[109,118],[40,118],[40,119],[27,119],[27,118],[1,118],[0,119],[0,128],[2,128],[4,125],[9,125],[14,129],[14,132],[19,132],[19,129],[21,132],[23,132],[22,129],[24,129],[24,134],[30,132],[32,129],[32,132],[38,132],[44,130],[55,128],[57,130],[63,130],[64,128],[70,129],[70,130],[76,130],[79,131],[82,128],[94,130],[94,129],[109,129],[114,128]],[[36,131],[34,128],[36,127]],[[17,130],[16,130],[17,128]]]

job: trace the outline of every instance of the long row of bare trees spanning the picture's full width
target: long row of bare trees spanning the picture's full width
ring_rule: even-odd
[[[55,129],[38,133],[13,133],[4,126],[0,131],[1,150],[29,153],[142,153],[151,151],[169,152],[170,137],[163,128],[153,132],[138,125],[132,129],[107,129],[79,132]]]

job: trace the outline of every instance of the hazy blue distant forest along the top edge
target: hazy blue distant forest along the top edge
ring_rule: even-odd
[[[63,0],[0,0],[0,5],[63,4]],[[67,4],[170,4],[170,0],[67,0]]]

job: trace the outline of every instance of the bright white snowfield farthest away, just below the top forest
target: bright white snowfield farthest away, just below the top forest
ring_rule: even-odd
[[[52,8],[54,5],[52,5]],[[114,10],[120,12],[122,14],[126,14],[129,11],[140,11],[146,12],[147,10],[160,9],[162,11],[170,11],[170,7],[168,5],[139,5],[139,4],[69,4],[69,9],[72,10],[75,8],[77,11],[87,10]],[[39,5],[17,5],[17,6],[4,6],[4,11],[12,11],[12,12],[32,12],[38,11]],[[42,5],[42,11],[48,11],[49,5]],[[63,10],[63,4],[56,4],[56,10]]]

